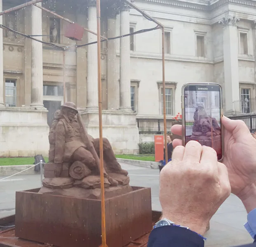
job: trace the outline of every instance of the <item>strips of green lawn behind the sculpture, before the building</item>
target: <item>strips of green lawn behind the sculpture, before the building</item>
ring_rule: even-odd
[[[45,158],[45,162],[48,162],[48,158]],[[153,154],[148,155],[132,155],[132,154],[117,154],[116,158],[124,158],[130,160],[139,161],[155,161]],[[34,163],[34,157],[18,157],[18,158],[0,158],[0,166],[2,165],[32,165]]]

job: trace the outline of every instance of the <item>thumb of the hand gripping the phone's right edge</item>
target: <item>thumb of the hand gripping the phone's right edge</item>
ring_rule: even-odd
[[[249,128],[242,120],[231,120],[223,116],[221,123],[228,132],[232,133],[235,139],[251,135]]]

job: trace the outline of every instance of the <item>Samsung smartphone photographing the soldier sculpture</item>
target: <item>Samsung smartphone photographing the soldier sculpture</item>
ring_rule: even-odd
[[[222,90],[216,83],[186,83],[182,87],[183,145],[190,140],[216,150],[223,159]]]

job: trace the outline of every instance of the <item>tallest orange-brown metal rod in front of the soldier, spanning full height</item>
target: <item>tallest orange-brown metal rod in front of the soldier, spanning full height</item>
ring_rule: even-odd
[[[101,246],[107,247],[105,221],[105,190],[103,175],[103,137],[102,137],[102,95],[101,95],[101,1],[96,0],[97,9],[97,55],[98,55],[98,101],[99,101],[99,147],[101,173]]]

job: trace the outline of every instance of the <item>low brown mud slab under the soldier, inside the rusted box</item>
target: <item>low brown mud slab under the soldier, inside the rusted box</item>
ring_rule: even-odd
[[[132,191],[132,187],[129,185],[120,185],[116,187],[108,187],[105,189],[105,198],[111,198],[114,196],[121,196]],[[42,186],[40,194],[51,194],[57,196],[71,196],[75,198],[84,199],[101,199],[101,189],[83,189],[79,187],[72,187],[70,189],[49,189]]]

